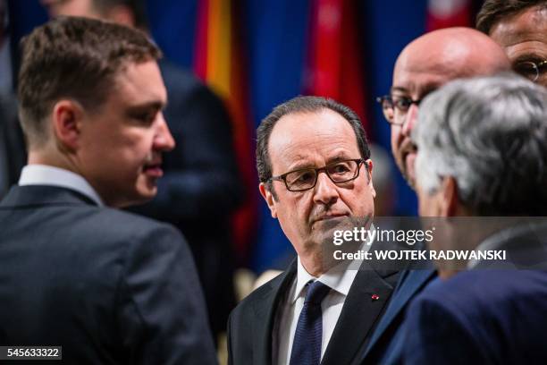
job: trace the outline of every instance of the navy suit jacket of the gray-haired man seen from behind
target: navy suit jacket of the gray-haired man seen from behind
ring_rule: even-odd
[[[509,266],[481,262],[417,296],[405,363],[547,363],[547,225],[530,228],[496,247]]]

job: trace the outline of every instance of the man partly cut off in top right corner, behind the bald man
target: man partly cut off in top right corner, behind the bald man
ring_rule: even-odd
[[[476,29],[505,50],[515,72],[547,87],[547,1],[486,0]]]

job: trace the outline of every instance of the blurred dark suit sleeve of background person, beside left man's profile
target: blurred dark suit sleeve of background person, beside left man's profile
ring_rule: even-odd
[[[211,90],[193,82],[183,92],[169,90],[164,115],[177,145],[165,154],[165,174],[158,182],[156,198],[132,209],[175,225],[181,220],[225,216],[243,199],[230,118]]]

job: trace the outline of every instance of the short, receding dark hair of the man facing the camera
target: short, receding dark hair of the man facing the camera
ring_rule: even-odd
[[[261,183],[266,183],[272,177],[272,161],[268,155],[268,141],[272,134],[275,123],[282,116],[297,114],[297,113],[314,113],[323,109],[331,109],[332,111],[343,116],[351,125],[355,137],[357,139],[359,153],[362,158],[370,158],[370,150],[366,141],[366,133],[358,115],[348,106],[344,106],[332,98],[321,97],[297,97],[284,102],[280,106],[276,106],[272,113],[266,116],[262,123],[257,128],[257,171],[258,179]],[[269,189],[271,186],[268,185]]]

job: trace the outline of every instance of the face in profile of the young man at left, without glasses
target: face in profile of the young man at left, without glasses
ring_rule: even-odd
[[[162,114],[167,101],[156,62],[127,64],[103,106],[85,110],[78,171],[111,207],[144,202],[156,195],[162,153],[174,141]]]

